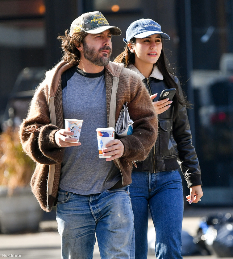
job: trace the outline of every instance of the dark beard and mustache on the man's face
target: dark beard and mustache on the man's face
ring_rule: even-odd
[[[112,54],[112,49],[109,46],[102,47],[98,51],[95,51],[94,48],[88,46],[85,43],[85,40],[83,40],[82,43],[83,43],[83,55],[84,55],[85,59],[89,60],[93,64],[100,66],[100,67],[104,67],[109,63],[110,56]],[[109,50],[110,51],[109,57],[107,57],[107,53],[103,53],[103,56],[100,57],[99,52],[102,50]]]

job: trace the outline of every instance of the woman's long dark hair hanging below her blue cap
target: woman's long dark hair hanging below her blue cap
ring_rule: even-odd
[[[131,40],[128,41],[128,43],[135,45],[136,38],[132,38]],[[126,45],[124,51],[114,59],[114,62],[123,63],[124,67],[128,67],[130,64],[135,63],[135,53],[131,52],[130,49],[128,48],[128,46]],[[178,104],[186,106],[187,108],[191,108],[191,105],[187,101],[186,95],[184,92],[183,92],[184,99],[181,98],[181,96],[179,95],[179,88],[174,79],[174,72],[171,71],[171,68],[168,64],[169,64],[169,62],[164,53],[163,39],[162,39],[162,50],[161,50],[160,57],[156,62],[156,66],[162,73],[162,75],[164,77],[164,81],[169,86],[169,88],[177,89],[176,94],[173,97],[173,105],[174,105],[174,118],[173,119],[175,119],[177,116],[177,112],[178,112]]]

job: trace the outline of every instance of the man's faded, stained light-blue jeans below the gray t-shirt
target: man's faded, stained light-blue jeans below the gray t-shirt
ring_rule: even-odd
[[[102,259],[134,259],[134,224],[128,186],[90,195],[59,190],[56,220],[62,259],[92,259],[95,235]]]

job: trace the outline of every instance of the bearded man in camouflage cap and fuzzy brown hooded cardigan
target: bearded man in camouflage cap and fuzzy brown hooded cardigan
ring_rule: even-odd
[[[20,126],[23,149],[37,162],[31,188],[41,208],[57,204],[62,258],[134,258],[129,184],[132,163],[144,160],[157,137],[157,116],[136,73],[110,62],[112,35],[100,12],[82,14],[66,30],[62,61],[46,73]],[[114,127],[123,104],[133,134],[107,143],[99,158],[97,128]],[[83,120],[80,142],[64,118]],[[81,145],[82,143],[82,145]]]

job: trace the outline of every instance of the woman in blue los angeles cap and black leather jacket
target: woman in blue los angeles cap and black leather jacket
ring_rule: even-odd
[[[148,206],[156,230],[157,259],[179,259],[183,219],[183,189],[179,168],[185,176],[189,204],[203,195],[201,170],[192,145],[186,106],[179,80],[169,70],[163,40],[170,37],[152,19],[137,20],[126,31],[124,51],[114,62],[124,63],[142,79],[159,119],[155,146],[144,161],[136,162],[130,185],[135,225],[135,258],[147,258]],[[164,89],[175,88],[173,99],[158,101]]]

